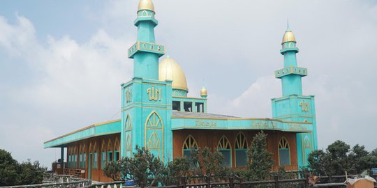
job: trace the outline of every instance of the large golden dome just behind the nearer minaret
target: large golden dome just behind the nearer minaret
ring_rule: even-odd
[[[158,65],[158,79],[161,81],[170,79],[172,80],[173,89],[188,91],[186,75],[184,75],[182,68],[172,58],[165,58]]]

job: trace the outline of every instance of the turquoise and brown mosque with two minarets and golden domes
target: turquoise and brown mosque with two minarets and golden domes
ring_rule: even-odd
[[[121,84],[121,119],[97,123],[44,143],[44,148],[61,148],[66,166],[60,173],[110,181],[103,175],[106,162],[131,157],[136,146],[148,148],[163,162],[190,156],[192,148],[209,147],[224,155],[223,163],[244,168],[246,150],[260,130],[268,134],[267,150],[274,167],[297,171],[317,149],[316,113],[313,95],[302,95],[302,77],[308,72],[297,66],[296,40],[289,29],[283,35],[280,53],[284,67],[274,75],[281,79],[282,97],[272,99],[272,118],[239,118],[209,113],[207,90],[188,97],[186,76],[158,45],[154,4],[140,0],[135,19],[138,38],[128,49],[133,58],[133,79]],[[199,92],[198,92],[199,93]],[[66,148],[66,156],[64,150]]]

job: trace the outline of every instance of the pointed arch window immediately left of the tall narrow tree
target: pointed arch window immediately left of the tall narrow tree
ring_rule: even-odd
[[[235,140],[235,167],[246,167],[247,147],[245,135],[240,132]]]

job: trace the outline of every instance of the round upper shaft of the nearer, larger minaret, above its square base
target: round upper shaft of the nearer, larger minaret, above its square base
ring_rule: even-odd
[[[158,79],[158,58],[165,54],[165,46],[155,44],[154,27],[158,25],[155,14],[151,0],[140,0],[134,22],[138,41],[128,49],[128,58],[133,58],[133,77]]]

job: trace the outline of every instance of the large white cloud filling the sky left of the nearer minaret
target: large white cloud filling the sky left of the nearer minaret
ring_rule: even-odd
[[[1,116],[1,148],[20,161],[34,158],[47,165],[54,150],[43,150],[44,141],[109,120],[119,111],[119,84],[132,74],[132,61],[125,58],[125,44],[131,42],[100,29],[81,44],[69,36],[48,36],[42,45],[30,20],[16,17],[15,24],[0,17],[0,49],[10,56],[1,73],[19,63],[20,70],[11,71],[28,72],[23,79],[30,80],[1,83],[1,102],[7,107],[1,110],[6,114]]]

